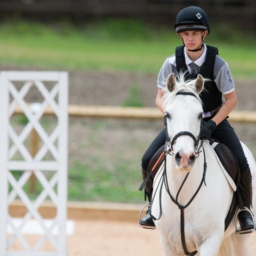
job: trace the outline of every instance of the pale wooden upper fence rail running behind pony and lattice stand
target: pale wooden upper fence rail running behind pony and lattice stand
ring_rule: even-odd
[[[157,108],[69,105],[68,113],[69,116],[75,117],[163,118],[163,114]],[[15,114],[22,114],[22,110],[19,107],[16,108]],[[44,114],[52,115],[53,111],[51,108],[47,108]],[[238,123],[256,123],[256,112],[232,111],[229,115],[229,121]]]

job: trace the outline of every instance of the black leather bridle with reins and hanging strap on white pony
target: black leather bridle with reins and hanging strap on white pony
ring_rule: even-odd
[[[178,94],[181,94],[181,95],[191,95],[191,96],[194,96],[196,97],[196,95],[192,92],[178,92],[176,95]],[[194,198],[196,197],[196,195],[198,194],[199,190],[201,189],[203,183],[204,185],[206,186],[206,182],[205,182],[205,175],[206,175],[206,169],[207,169],[207,163],[206,163],[206,157],[205,157],[205,150],[204,150],[204,147],[203,147],[203,142],[204,140],[201,140],[201,143],[199,145],[199,141],[200,141],[200,133],[199,132],[199,136],[198,138],[195,137],[195,135],[191,132],[188,132],[188,131],[181,131],[181,132],[178,132],[176,135],[174,135],[174,137],[172,138],[172,140],[170,141],[170,138],[169,138],[169,134],[168,134],[168,131],[167,131],[167,122],[166,122],[166,116],[165,116],[165,119],[164,119],[164,123],[165,123],[165,127],[166,127],[166,143],[165,143],[165,149],[164,149],[164,170],[163,170],[163,174],[162,174],[162,177],[161,177],[161,180],[159,181],[158,183],[158,186],[156,189],[158,189],[158,187],[160,186],[160,192],[159,192],[159,209],[160,209],[160,212],[159,212],[159,217],[156,219],[152,214],[151,214],[151,207],[153,205],[153,201],[154,201],[154,198],[155,198],[155,195],[154,194],[154,197],[152,198],[151,200],[151,204],[150,204],[150,209],[149,209],[149,213],[151,215],[151,217],[154,219],[154,220],[159,220],[162,216],[162,188],[163,188],[163,185],[165,186],[165,189],[167,191],[167,194],[170,196],[172,202],[174,204],[176,204],[180,210],[180,231],[181,231],[181,243],[182,243],[182,247],[183,247],[183,250],[185,252],[185,255],[188,255],[188,256],[193,256],[193,255],[196,255],[197,254],[197,251],[194,251],[194,252],[188,252],[187,250],[187,246],[186,246],[186,238],[185,238],[185,218],[184,218],[184,209],[186,209],[186,207],[188,207],[190,205],[191,202],[193,202]],[[196,157],[199,156],[199,153],[201,153],[203,151],[203,154],[204,154],[204,170],[203,170],[203,177],[202,177],[202,180],[199,184],[199,187],[197,188],[197,190],[195,191],[195,194],[191,197],[191,199],[189,200],[189,202],[186,204],[186,205],[181,205],[179,202],[178,202],[178,197],[179,197],[179,194],[180,194],[180,191],[182,189],[182,187],[184,186],[187,178],[188,178],[188,175],[190,172],[187,173],[185,179],[183,180],[183,182],[181,183],[181,186],[178,190],[178,193],[177,193],[177,196],[174,198],[171,193],[170,193],[170,189],[169,189],[169,184],[168,184],[168,181],[167,181],[167,175],[166,175],[166,156],[167,155],[173,155],[174,152],[173,152],[173,145],[175,143],[175,141],[181,137],[181,136],[189,136],[190,138],[193,139],[194,141],[194,146],[195,146],[195,155]],[[201,147],[203,148],[202,151],[199,151],[201,149]]]

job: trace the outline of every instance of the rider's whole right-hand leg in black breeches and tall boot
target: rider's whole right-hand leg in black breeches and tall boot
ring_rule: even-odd
[[[251,172],[241,142],[237,138],[236,133],[228,123],[227,119],[218,125],[217,130],[213,132],[212,136],[225,144],[235,155],[241,171],[239,190],[244,206],[250,210],[252,204]],[[246,210],[241,211],[241,213],[238,214],[238,220],[241,226],[241,231],[254,229],[254,222],[250,212]]]

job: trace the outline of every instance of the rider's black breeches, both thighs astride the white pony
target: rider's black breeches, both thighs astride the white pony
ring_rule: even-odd
[[[244,172],[248,168],[247,159],[244,155],[242,145],[231,125],[224,119],[212,133],[212,137],[226,145],[232,153],[235,155],[240,171]],[[154,156],[156,151],[161,148],[166,141],[166,131],[163,129],[153,142],[148,147],[146,153],[142,157],[141,166],[143,169],[147,170],[150,159]]]

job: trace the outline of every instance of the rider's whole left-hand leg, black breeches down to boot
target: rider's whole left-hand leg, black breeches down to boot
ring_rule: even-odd
[[[151,158],[155,155],[157,150],[165,144],[165,141],[166,141],[166,131],[165,129],[163,129],[157,135],[154,141],[150,144],[146,153],[143,155],[142,161],[141,161],[143,180],[145,180],[145,178],[147,177],[148,164]],[[146,182],[145,191],[148,197],[148,201],[149,203],[151,203],[152,194],[153,194],[153,179],[151,177],[148,179],[148,182]],[[149,209],[147,210],[146,216],[141,219],[140,225],[155,227],[155,223],[149,214]]]

